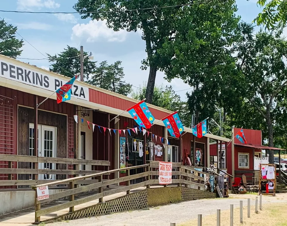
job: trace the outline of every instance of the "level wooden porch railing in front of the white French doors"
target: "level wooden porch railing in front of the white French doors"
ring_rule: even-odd
[[[31,186],[46,183],[47,181],[57,182],[58,184],[69,184],[65,182],[58,183],[58,181],[63,180],[11,180],[13,174],[54,174],[54,175],[88,175],[95,174],[98,172],[102,172],[104,170],[109,170],[110,162],[109,161],[100,161],[100,160],[82,160],[82,159],[68,159],[68,158],[49,158],[49,157],[36,157],[36,156],[24,156],[24,155],[5,155],[0,154],[0,161],[7,161],[8,168],[1,168],[0,174],[8,174],[8,180],[0,180],[0,186]],[[59,164],[61,166],[66,165],[64,168],[66,169],[23,169],[23,168],[12,168],[12,162],[25,162],[25,163],[54,163],[56,164],[55,168],[58,167]],[[76,169],[68,169],[68,165],[74,165]],[[102,166],[105,169],[102,170],[78,170],[79,165],[91,165],[92,167]],[[39,168],[39,167],[33,167]],[[37,178],[34,176],[34,178]],[[77,180],[76,184],[90,184],[95,183],[94,180]]]

